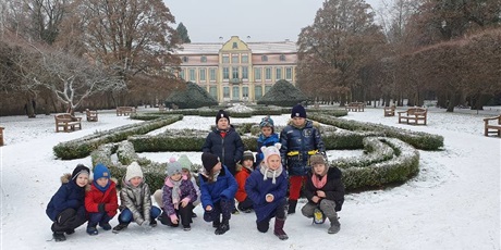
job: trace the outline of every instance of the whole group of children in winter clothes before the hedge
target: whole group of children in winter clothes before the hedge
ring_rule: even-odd
[[[181,158],[171,159],[163,188],[154,195],[160,209],[152,205],[149,187],[136,162],[127,166],[122,179],[120,207],[117,180],[111,178],[108,167],[97,164],[94,179],[89,180],[89,168],[77,165],[71,175],[61,178],[62,185],[47,207],[47,215],[53,222],[53,238],[65,240],[64,234],[73,234],[87,221],[89,235],[97,235],[98,226],[119,233],[131,222],[154,227],[157,218],[164,225],[182,225],[184,230],[190,230],[192,218],[196,217],[193,209],[201,203],[204,221],[212,223],[216,235],[230,229],[231,215],[237,208],[245,213],[255,211],[256,226],[261,233],[268,232],[274,217],[273,234],[284,240],[289,238],[283,229],[286,215],[295,213],[303,186],[308,200],[302,208],[303,215],[320,223],[329,218],[328,233],[338,233],[337,212],[344,202],[341,171],[328,166],[320,132],[306,120],[305,109],[301,104],[292,109],[291,122],[280,137],[269,116],[262,118],[259,127],[261,134],[254,161],[250,151],[244,152],[229,114],[220,110],[216,129],[209,133],[201,149],[199,188],[190,173],[191,166],[183,166],[185,161]],[[112,228],[109,222],[118,209],[119,225]]]

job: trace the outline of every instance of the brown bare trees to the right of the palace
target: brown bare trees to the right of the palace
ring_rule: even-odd
[[[501,104],[501,2],[328,0],[302,29],[297,82],[326,102]],[[375,22],[376,14],[379,20]]]

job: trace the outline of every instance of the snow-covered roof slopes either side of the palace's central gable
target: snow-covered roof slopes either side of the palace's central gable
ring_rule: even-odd
[[[296,53],[294,41],[256,41],[245,42],[253,53]],[[194,42],[183,43],[178,54],[218,54],[224,42]]]

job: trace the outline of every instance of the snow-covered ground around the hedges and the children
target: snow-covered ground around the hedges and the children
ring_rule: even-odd
[[[139,110],[144,111],[144,110]],[[101,112],[98,123],[83,122],[83,130],[54,133],[53,116],[2,116],[5,146],[0,147],[1,166],[1,249],[500,249],[500,167],[501,139],[482,135],[482,117],[498,115],[499,107],[475,111],[430,109],[427,126],[398,124],[396,117],[383,117],[382,109],[367,108],[345,118],[442,135],[444,148],[420,151],[420,173],[406,184],[384,190],[346,195],[341,232],[328,235],[328,224],[311,225],[301,213],[289,216],[285,232],[290,239],[280,241],[258,233],[254,214],[232,216],[231,229],[216,236],[201,210],[191,232],[163,225],[151,230],[131,226],[123,233],[99,232],[88,236],[80,227],[64,242],[50,241],[51,222],[45,214],[50,197],[59,188],[59,177],[77,163],[90,164],[90,158],[61,161],[52,147],[97,130],[137,123],[113,111]],[[83,114],[80,114],[84,116]],[[232,123],[258,122],[261,116],[231,118]],[[284,125],[288,115],[272,116]],[[208,129],[212,117],[186,116],[169,128]],[[152,132],[158,133],[158,132]],[[330,151],[330,160],[359,155],[362,151]],[[167,162],[180,153],[142,153]],[[187,152],[200,163],[200,153]],[[298,204],[298,210],[303,203]],[[117,218],[111,222],[117,224]]]

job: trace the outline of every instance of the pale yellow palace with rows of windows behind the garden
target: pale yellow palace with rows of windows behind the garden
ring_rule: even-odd
[[[183,43],[179,77],[196,83],[219,102],[254,102],[280,79],[295,84],[297,48],[293,41]]]

